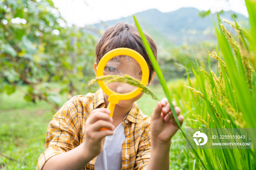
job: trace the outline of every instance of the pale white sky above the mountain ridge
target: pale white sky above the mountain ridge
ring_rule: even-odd
[[[69,23],[79,27],[127,17],[137,12],[156,8],[161,12],[172,12],[182,7],[199,10],[233,10],[248,16],[244,0],[52,0],[60,15]]]

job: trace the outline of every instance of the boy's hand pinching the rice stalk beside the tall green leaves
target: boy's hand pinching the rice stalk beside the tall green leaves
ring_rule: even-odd
[[[180,125],[182,125],[184,117],[180,115],[181,109],[176,107],[176,103],[174,102],[173,105]],[[157,143],[169,145],[171,143],[171,138],[179,129],[173,122],[175,121],[174,117],[171,119],[169,115],[173,117],[167,98],[163,98],[161,102],[158,101],[150,122],[152,145]]]

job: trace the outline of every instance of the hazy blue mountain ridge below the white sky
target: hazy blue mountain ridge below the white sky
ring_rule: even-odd
[[[180,8],[173,12],[161,12],[157,9],[136,13],[135,16],[140,25],[160,44],[182,45],[191,44],[203,40],[215,40],[215,30],[212,19],[217,23],[216,13],[210,14],[204,18],[199,16],[199,10],[196,8]],[[244,27],[248,27],[248,18],[236,12],[223,12],[221,18],[231,20],[233,13],[236,20]],[[128,16],[117,20],[97,23],[84,27],[89,32],[103,32],[106,28],[113,26],[118,22],[134,23],[133,17]],[[233,31],[230,26],[224,23],[229,31]],[[96,31],[97,32],[97,31]],[[99,35],[99,34],[98,34]]]

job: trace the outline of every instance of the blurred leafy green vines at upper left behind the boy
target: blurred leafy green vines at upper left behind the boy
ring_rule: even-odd
[[[25,100],[58,109],[59,94],[83,93],[94,76],[95,43],[92,35],[68,27],[50,0],[0,0],[0,92],[12,94],[27,84]],[[52,81],[61,82],[58,92]]]

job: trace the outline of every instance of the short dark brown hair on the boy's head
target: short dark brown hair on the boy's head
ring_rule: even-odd
[[[146,36],[146,39],[154,53],[155,58],[157,59],[157,45],[155,41],[149,34],[147,34],[146,32],[143,33]],[[140,34],[135,25],[133,24],[119,22],[116,25],[109,27],[104,31],[95,49],[95,61],[97,65],[101,58],[110,50],[122,47],[135,50],[143,56],[149,68],[148,82],[150,82],[151,77],[154,73],[154,68],[147,55],[146,49],[140,38]]]

